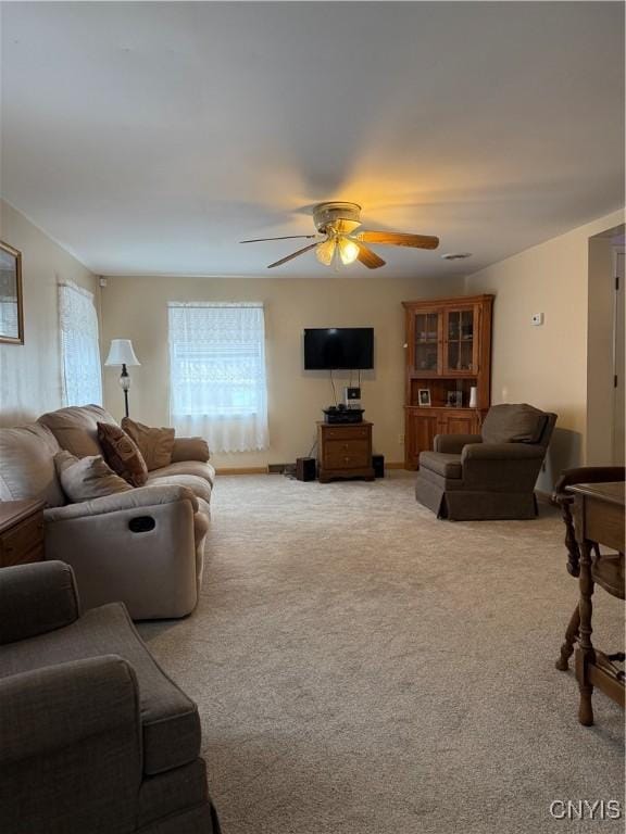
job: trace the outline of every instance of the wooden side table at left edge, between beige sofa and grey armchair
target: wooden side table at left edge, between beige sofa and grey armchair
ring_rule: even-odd
[[[0,568],[43,561],[42,501],[0,502]]]

